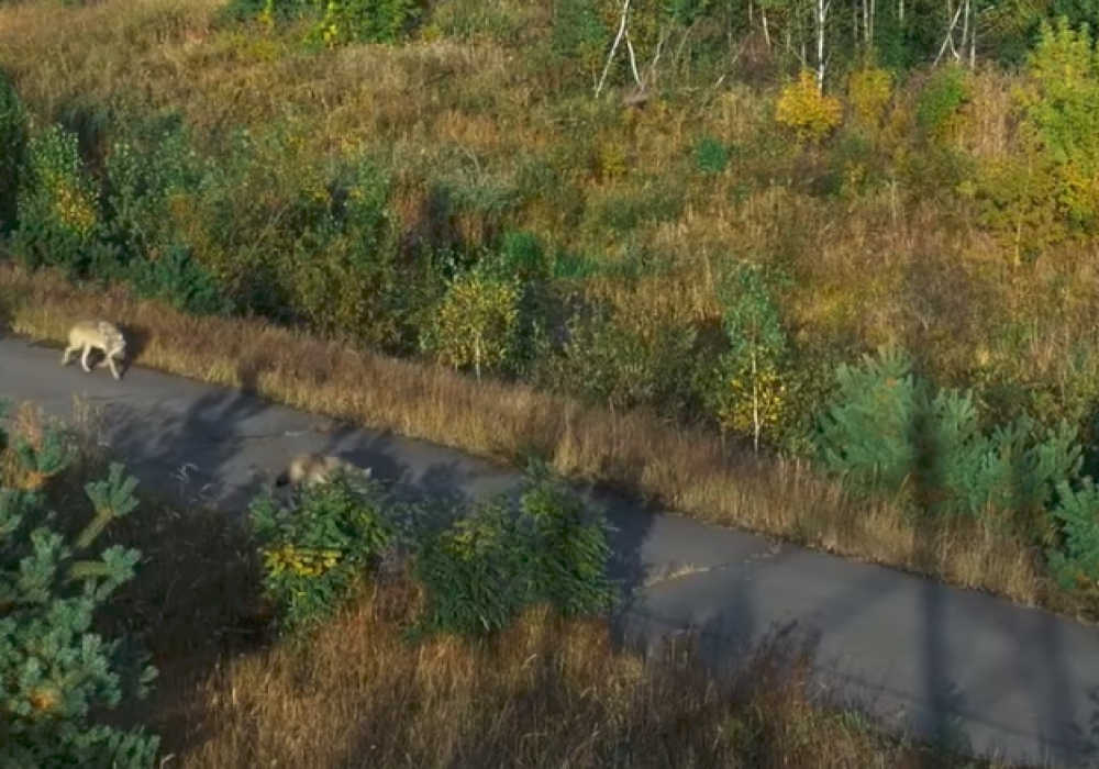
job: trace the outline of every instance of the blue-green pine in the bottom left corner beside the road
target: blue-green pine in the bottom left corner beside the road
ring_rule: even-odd
[[[136,481],[115,464],[88,483],[95,515],[68,539],[57,531],[68,520],[46,509],[45,488],[75,455],[53,426],[37,441],[15,436],[9,446],[14,462],[0,488],[0,764],[152,767],[155,736],[92,723],[98,711],[118,705],[124,686],[144,696],[155,676],[127,665],[119,642],[91,632],[97,610],[133,578],[140,558],[118,545],[92,549],[136,506]]]

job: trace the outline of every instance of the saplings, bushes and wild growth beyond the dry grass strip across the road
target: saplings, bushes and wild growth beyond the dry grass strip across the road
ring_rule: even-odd
[[[393,82],[420,73],[422,93],[378,78],[346,97],[371,122],[341,123],[355,110],[323,93],[230,108],[170,73],[142,76],[147,102],[118,69],[66,100],[42,57],[4,60],[7,250],[188,313],[703,425],[991,527],[1090,591],[1088,18],[997,11],[977,71],[937,4],[886,5],[872,36],[796,2],[640,3],[634,58],[662,85],[636,108],[592,98],[634,79],[625,55],[603,78],[620,7],[601,0],[162,9],[153,32],[134,22],[135,55],[196,34],[185,69],[278,73],[275,89],[329,69],[344,87],[351,51]],[[796,55],[818,40],[823,90]],[[285,100],[304,116],[274,118]]]

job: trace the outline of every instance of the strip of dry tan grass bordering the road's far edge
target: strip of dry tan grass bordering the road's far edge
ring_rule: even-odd
[[[615,413],[536,390],[476,382],[444,368],[353,352],[256,321],[197,319],[122,291],[84,292],[47,274],[3,267],[19,334],[60,342],[78,316],[110,316],[140,339],[144,365],[245,387],[287,405],[392,430],[482,457],[536,453],[569,477],[636,492],[708,523],[888,564],[1072,613],[1036,554],[1002,533],[929,531],[888,503],[845,494],[806,467],[725,450],[702,432],[644,412]],[[931,544],[929,544],[931,543]]]

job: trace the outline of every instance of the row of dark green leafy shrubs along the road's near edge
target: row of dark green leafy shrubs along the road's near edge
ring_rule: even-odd
[[[571,616],[612,604],[602,515],[539,468],[518,499],[456,508],[397,503],[344,475],[303,489],[295,510],[264,495],[252,521],[268,594],[293,632],[330,616],[392,548],[408,554],[424,591],[418,632],[493,633],[532,605]]]

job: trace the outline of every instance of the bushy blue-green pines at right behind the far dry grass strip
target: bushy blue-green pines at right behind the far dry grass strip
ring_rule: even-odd
[[[930,514],[992,515],[1047,544],[1056,486],[1083,466],[1076,430],[1022,416],[986,436],[970,393],[934,392],[911,367],[896,348],[839,367],[820,419],[824,465],[858,488],[906,492]]]

